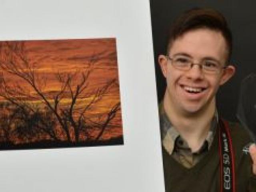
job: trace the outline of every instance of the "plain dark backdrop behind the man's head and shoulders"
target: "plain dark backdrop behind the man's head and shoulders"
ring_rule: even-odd
[[[158,65],[158,55],[164,53],[166,31],[180,13],[195,7],[210,7],[222,12],[232,31],[231,62],[236,66],[236,74],[220,87],[217,108],[222,117],[236,121],[241,81],[248,74],[256,72],[256,1],[150,0],[158,102],[162,99],[166,86]]]

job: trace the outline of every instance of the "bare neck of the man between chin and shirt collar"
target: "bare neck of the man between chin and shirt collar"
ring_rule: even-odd
[[[215,109],[215,98],[196,112],[185,112],[175,108],[175,104],[164,97],[164,110],[168,118],[182,138],[188,142],[192,152],[199,150],[205,141]]]

